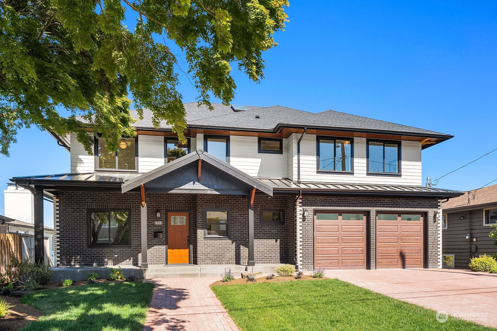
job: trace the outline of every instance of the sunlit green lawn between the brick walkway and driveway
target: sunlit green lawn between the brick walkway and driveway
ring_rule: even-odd
[[[495,330],[338,279],[213,286],[242,331]]]

